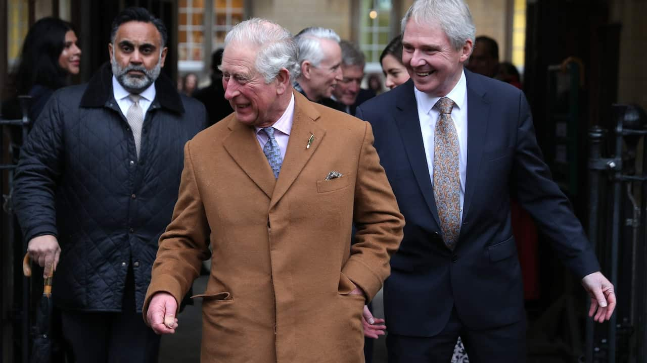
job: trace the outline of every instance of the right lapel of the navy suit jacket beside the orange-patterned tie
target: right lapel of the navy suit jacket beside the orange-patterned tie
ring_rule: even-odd
[[[467,83],[467,170],[465,176],[465,199],[463,201],[463,220],[470,211],[476,177],[481,167],[485,135],[490,116],[490,103],[485,98],[486,91],[472,72],[465,70]]]

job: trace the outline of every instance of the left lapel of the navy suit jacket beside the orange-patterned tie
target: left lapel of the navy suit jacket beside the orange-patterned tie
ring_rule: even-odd
[[[420,186],[424,201],[432,212],[436,224],[441,225],[438,218],[436,202],[433,198],[432,180],[429,175],[424,143],[422,143],[418,107],[415,101],[415,95],[413,94],[413,81],[407,81],[402,87],[404,87],[404,95],[398,100],[398,113],[395,116],[395,121],[398,124],[404,149],[406,149],[406,154],[411,163],[411,169]]]

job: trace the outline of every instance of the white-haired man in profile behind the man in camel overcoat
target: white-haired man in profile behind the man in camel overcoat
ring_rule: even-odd
[[[294,87],[309,100],[341,109],[331,99],[337,83],[342,81],[342,48],[332,29],[305,28],[294,37],[299,47],[299,76]]]

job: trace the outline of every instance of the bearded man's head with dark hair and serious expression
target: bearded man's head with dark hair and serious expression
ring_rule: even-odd
[[[113,74],[132,93],[142,92],[155,82],[164,67],[166,51],[155,25],[142,21],[120,25],[114,44],[108,45]]]

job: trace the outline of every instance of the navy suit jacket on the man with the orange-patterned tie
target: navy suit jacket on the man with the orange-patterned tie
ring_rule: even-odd
[[[447,324],[453,307],[470,329],[524,318],[510,196],[532,215],[573,273],[581,278],[600,269],[582,225],[542,160],[523,92],[468,70],[465,76],[467,172],[454,251],[441,236],[413,81],[356,112],[373,126],[375,148],[406,220],[384,283],[391,333],[432,337]]]

